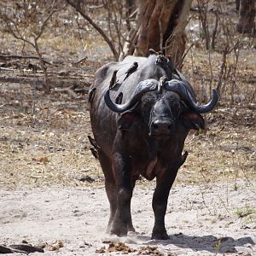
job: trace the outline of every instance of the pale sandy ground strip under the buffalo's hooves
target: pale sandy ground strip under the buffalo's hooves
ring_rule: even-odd
[[[167,241],[150,239],[154,182],[135,188],[137,233],[121,238],[105,232],[108,199],[102,187],[1,189],[0,243],[44,244],[44,255],[256,255],[255,185],[246,180],[236,182],[236,189],[233,182],[175,185],[166,212]]]

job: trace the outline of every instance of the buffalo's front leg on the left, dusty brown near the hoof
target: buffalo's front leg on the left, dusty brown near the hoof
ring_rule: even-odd
[[[131,161],[123,154],[113,154],[113,173],[117,184],[117,208],[113,218],[111,234],[126,236],[128,230],[134,230],[131,223]]]

